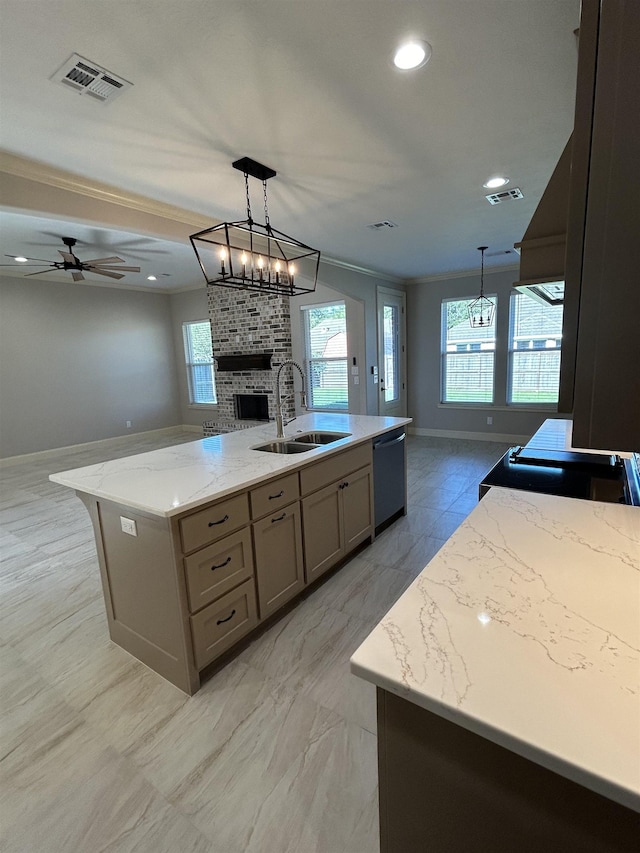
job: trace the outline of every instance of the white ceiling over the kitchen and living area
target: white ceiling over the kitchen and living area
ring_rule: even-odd
[[[571,132],[578,21],[579,0],[0,0],[0,147],[211,224],[245,218],[249,156],[278,173],[273,226],[323,256],[399,279],[477,269],[479,245],[512,265]],[[400,72],[407,35],[433,54]],[[50,81],[73,53],[133,87],[103,105]],[[496,173],[524,198],[490,205]],[[70,236],[141,266],[120,286],[203,283],[184,240],[37,208],[2,208],[0,253],[56,260]]]

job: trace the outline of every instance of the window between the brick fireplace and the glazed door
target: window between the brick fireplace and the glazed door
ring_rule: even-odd
[[[344,302],[300,309],[305,345],[307,406],[320,411],[349,409],[347,312]]]

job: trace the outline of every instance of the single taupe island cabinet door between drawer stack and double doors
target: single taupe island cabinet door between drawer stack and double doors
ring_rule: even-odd
[[[304,587],[300,504],[253,525],[258,606],[264,619]]]

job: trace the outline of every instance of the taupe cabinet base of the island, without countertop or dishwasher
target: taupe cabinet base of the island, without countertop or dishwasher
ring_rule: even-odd
[[[82,495],[111,638],[187,693],[201,671],[373,533],[371,443],[171,519]],[[301,497],[302,496],[302,497]]]

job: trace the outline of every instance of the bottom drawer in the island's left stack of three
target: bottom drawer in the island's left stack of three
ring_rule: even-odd
[[[258,624],[253,579],[191,617],[196,667],[202,669]]]

